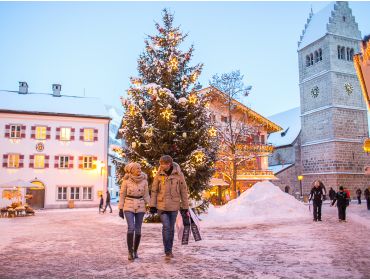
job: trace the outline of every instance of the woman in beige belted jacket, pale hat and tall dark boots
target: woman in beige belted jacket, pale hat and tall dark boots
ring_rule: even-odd
[[[141,240],[141,226],[149,204],[148,180],[141,171],[139,163],[132,162],[125,166],[125,176],[121,184],[119,198],[119,216],[127,222],[128,260],[138,258],[138,248]]]

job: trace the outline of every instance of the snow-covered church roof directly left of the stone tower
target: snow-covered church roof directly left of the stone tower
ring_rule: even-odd
[[[271,121],[283,128],[281,132],[271,133],[268,142],[276,147],[290,145],[301,131],[301,109],[296,107],[269,117]]]

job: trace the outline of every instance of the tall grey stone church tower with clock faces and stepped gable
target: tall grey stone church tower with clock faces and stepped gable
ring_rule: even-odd
[[[311,13],[298,42],[301,174],[307,193],[315,179],[329,187],[367,187],[362,148],[367,108],[353,64],[361,33],[348,2]],[[354,195],[351,191],[351,195]]]

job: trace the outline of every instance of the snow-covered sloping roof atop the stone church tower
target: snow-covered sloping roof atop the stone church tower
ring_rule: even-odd
[[[310,13],[309,22],[305,26],[301,39],[298,42],[298,50],[325,36],[331,12],[334,11],[334,5],[335,2],[331,2],[319,12],[315,14]]]

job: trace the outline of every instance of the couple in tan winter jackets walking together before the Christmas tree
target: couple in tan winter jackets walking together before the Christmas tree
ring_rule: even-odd
[[[150,205],[150,213],[158,212],[160,215],[166,259],[173,257],[172,246],[178,211],[181,211],[183,217],[189,217],[188,188],[180,166],[167,155],[160,158],[159,164],[151,196],[147,176],[141,171],[140,164],[132,162],[125,166],[126,174],[121,185],[118,208],[119,216],[127,221],[129,260],[138,258],[145,204]]]

